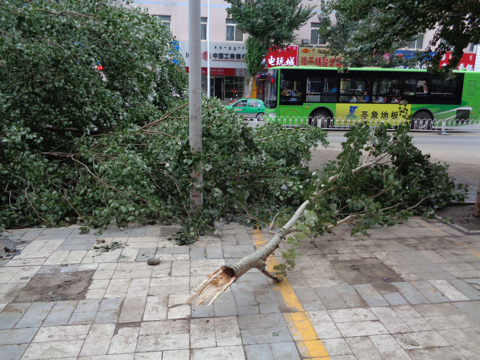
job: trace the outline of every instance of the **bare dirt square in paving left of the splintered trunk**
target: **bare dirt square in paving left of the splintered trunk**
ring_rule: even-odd
[[[12,302],[83,300],[95,270],[37,274]]]

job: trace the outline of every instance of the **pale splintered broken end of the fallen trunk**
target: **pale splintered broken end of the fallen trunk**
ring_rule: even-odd
[[[224,292],[236,280],[237,278],[235,277],[233,269],[228,266],[222,266],[215,272],[208,274],[205,280],[202,281],[184,303],[188,304],[195,296],[198,296],[193,302],[193,306],[197,306],[212,297],[212,300],[208,303],[208,305],[211,305],[218,295]]]

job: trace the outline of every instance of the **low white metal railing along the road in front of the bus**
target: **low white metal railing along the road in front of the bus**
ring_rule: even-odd
[[[248,126],[257,127],[263,126],[265,120],[268,122],[279,122],[286,128],[306,128],[307,125],[321,127],[328,130],[348,130],[350,127],[358,124],[362,124],[364,121],[368,121],[371,126],[379,126],[380,124],[387,124],[390,129],[395,129],[400,123],[406,122],[406,120],[399,119],[375,119],[364,120],[354,118],[304,118],[304,117],[270,117],[264,116],[250,116],[239,117],[245,121],[248,121]],[[423,132],[480,132],[480,120],[431,120],[431,119],[414,119],[411,121],[410,129],[412,131]]]

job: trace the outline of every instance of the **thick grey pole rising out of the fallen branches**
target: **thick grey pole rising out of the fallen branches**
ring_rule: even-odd
[[[194,151],[202,152],[202,92],[201,92],[201,49],[200,49],[200,2],[201,0],[188,1],[188,48],[189,61],[189,117],[190,117],[190,146]],[[193,210],[202,208],[203,195],[200,182],[202,169],[197,168],[191,173],[195,184],[190,188],[190,200]],[[198,185],[198,186],[197,186]]]

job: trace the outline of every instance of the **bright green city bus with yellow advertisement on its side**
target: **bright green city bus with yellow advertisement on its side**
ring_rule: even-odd
[[[355,122],[398,123],[407,100],[412,129],[432,130],[480,122],[480,72],[455,71],[451,79],[425,70],[278,66],[268,70],[265,120],[344,128]]]

